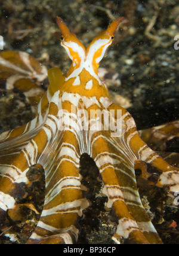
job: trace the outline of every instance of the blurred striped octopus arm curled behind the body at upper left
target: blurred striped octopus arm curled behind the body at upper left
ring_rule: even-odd
[[[30,104],[33,114],[45,91],[47,68],[22,51],[1,51],[0,88],[21,92]]]

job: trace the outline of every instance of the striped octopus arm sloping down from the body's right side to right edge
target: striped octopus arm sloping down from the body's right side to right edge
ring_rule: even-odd
[[[113,105],[111,105],[110,108],[112,108],[112,106]],[[115,108],[115,106],[113,106],[113,108]],[[119,106],[116,105],[116,108],[119,108]],[[166,163],[162,157],[149,148],[140,138],[135,126],[135,121],[127,111],[125,111],[122,118],[127,126],[125,131],[126,143],[124,143],[128,145],[129,150],[135,154],[135,169],[141,169],[141,176],[147,179],[152,178],[153,173],[157,173],[159,178],[156,185],[159,187],[168,186],[171,194],[178,191],[179,173],[176,169]],[[128,136],[128,133],[130,133],[130,136]]]

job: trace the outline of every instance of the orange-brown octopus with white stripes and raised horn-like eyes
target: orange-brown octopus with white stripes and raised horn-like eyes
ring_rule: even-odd
[[[163,153],[162,158],[150,148],[158,150],[178,137],[179,122],[138,132],[129,112],[112,102],[98,66],[120,22],[122,18],[114,20],[85,47],[57,17],[61,45],[72,65],[66,75],[59,68],[48,70],[45,93],[39,87],[47,77],[44,66],[27,53],[2,51],[1,83],[38,105],[32,121],[0,135],[2,233],[17,216],[19,199],[27,196],[29,169],[37,168],[44,170],[45,199],[27,244],[76,243],[79,219],[91,203],[79,172],[80,159],[87,154],[103,181],[105,208],[115,215],[116,240],[162,243],[141,202],[135,170],[147,184],[166,187],[169,196],[179,191],[178,154]],[[36,211],[33,204],[24,205]]]

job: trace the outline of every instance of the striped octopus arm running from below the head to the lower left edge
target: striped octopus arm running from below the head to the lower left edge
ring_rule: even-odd
[[[54,103],[49,103],[52,97],[53,87],[50,86],[39,102],[37,116],[24,126],[4,132],[0,136],[0,209],[1,217],[3,216],[2,222],[6,218],[8,209],[17,208],[16,197],[26,195],[21,184],[30,185],[26,178],[30,166],[38,163],[39,156],[47,148],[47,142],[51,141],[52,143],[53,141],[45,130],[48,123],[53,123],[51,119],[55,113],[52,106]],[[56,115],[57,112],[58,109]],[[45,128],[45,126],[47,127]]]

